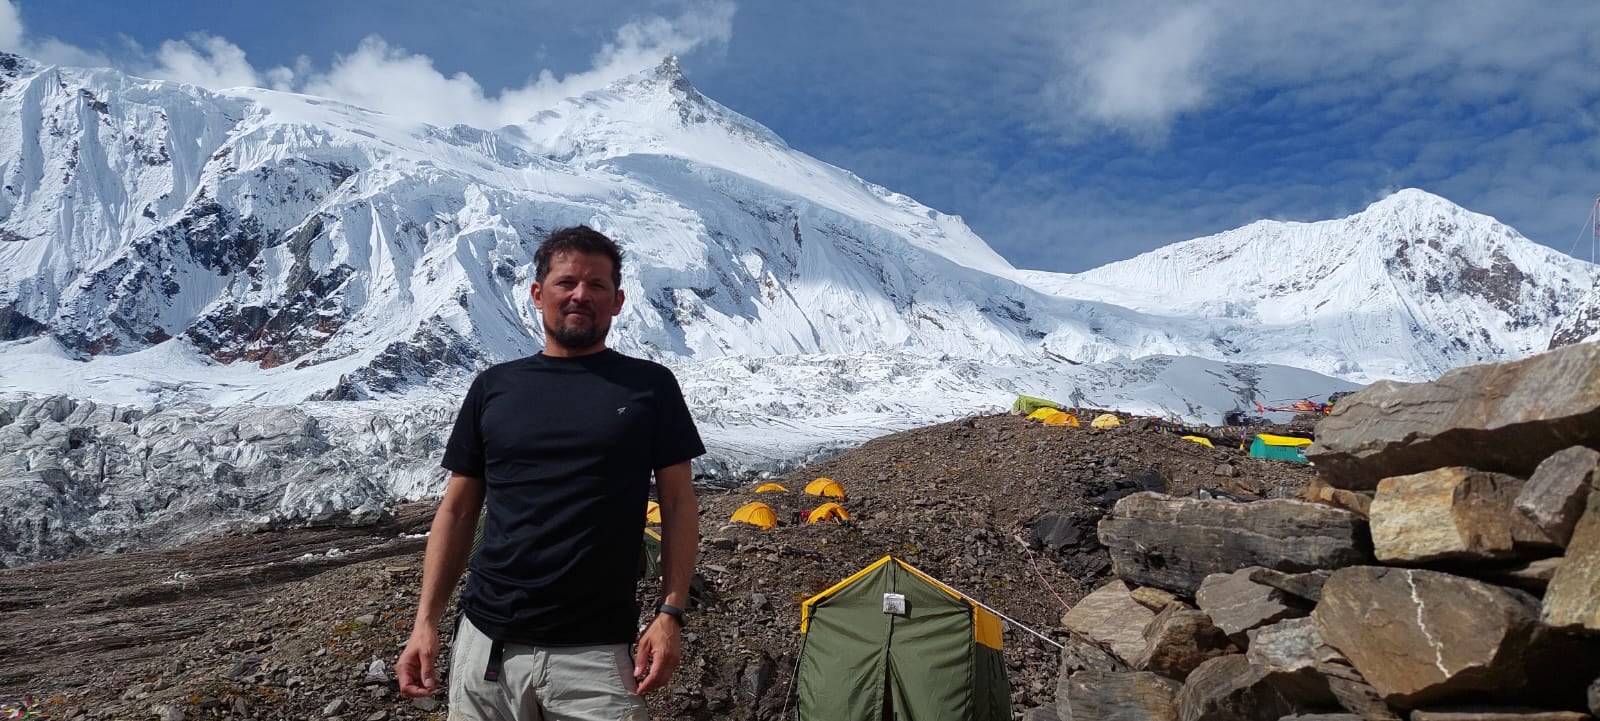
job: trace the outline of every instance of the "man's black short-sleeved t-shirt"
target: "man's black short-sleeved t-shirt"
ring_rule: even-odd
[[[704,452],[658,363],[539,353],[480,372],[442,464],[485,483],[462,612],[499,641],[634,641],[650,476]]]

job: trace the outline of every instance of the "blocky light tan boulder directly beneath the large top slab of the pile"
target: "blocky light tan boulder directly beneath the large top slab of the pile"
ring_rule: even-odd
[[[1373,552],[1382,563],[1485,561],[1550,539],[1514,504],[1523,481],[1464,467],[1384,478],[1373,499]]]

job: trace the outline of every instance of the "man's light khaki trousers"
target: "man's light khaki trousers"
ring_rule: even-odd
[[[450,721],[646,721],[627,644],[506,644],[485,681],[490,641],[462,617],[450,657]]]

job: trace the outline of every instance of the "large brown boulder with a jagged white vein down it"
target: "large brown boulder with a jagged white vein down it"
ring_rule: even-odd
[[[1339,569],[1312,612],[1317,630],[1392,705],[1510,692],[1526,684],[1538,601],[1437,571]]]

